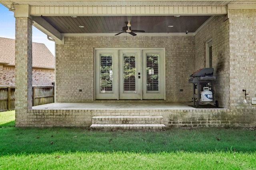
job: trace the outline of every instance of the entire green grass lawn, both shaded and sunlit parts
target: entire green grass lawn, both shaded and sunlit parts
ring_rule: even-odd
[[[17,128],[14,117],[0,112],[0,170],[256,170],[256,131]]]

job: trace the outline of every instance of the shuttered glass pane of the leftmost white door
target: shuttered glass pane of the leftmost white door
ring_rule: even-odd
[[[100,92],[110,93],[113,88],[112,55],[100,55]]]

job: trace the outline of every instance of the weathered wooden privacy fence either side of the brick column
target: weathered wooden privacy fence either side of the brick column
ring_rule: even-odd
[[[32,105],[54,103],[54,85],[33,86]],[[15,87],[0,86],[0,111],[14,110]]]

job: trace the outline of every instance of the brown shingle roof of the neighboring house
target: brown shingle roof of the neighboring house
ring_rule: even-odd
[[[39,68],[53,68],[55,58],[46,45],[32,43],[32,66]],[[15,39],[0,37],[0,63],[15,65]]]

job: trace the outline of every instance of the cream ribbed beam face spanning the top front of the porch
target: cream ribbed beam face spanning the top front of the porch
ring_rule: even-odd
[[[32,16],[225,15],[226,6],[31,6]]]

